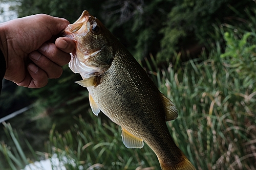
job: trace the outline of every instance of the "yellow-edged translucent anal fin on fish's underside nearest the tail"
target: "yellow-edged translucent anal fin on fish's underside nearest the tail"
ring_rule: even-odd
[[[122,140],[126,148],[142,148],[144,142],[142,139],[134,136],[130,132],[122,128]]]

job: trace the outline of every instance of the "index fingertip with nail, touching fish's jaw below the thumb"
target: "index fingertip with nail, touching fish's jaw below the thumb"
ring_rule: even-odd
[[[75,42],[68,37],[59,37],[55,41],[56,46],[66,53],[72,53],[75,50]]]

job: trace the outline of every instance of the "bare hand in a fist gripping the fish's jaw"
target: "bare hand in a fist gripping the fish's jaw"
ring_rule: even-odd
[[[0,48],[6,60],[5,79],[19,86],[44,87],[59,78],[75,42],[59,37],[69,25],[63,18],[37,14],[0,23]],[[56,39],[57,38],[57,39]]]

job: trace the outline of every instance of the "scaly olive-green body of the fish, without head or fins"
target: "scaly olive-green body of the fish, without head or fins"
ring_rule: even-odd
[[[143,68],[136,68],[137,61],[133,60],[135,59],[129,55],[117,54],[102,83],[96,87],[88,87],[88,91],[106,116],[135,136],[142,138],[159,159],[176,160],[172,152],[180,151],[172,144],[173,142],[170,142],[173,139],[165,124],[164,106],[159,90]],[[119,83],[115,85],[114,82]],[[115,96],[123,96],[123,98],[115,100]]]

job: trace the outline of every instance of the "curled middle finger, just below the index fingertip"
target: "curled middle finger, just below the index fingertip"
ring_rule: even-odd
[[[51,61],[61,66],[68,64],[71,59],[69,53],[65,53],[59,50],[59,48],[57,48],[54,43],[46,42],[38,48],[38,51],[47,58],[49,58]]]

